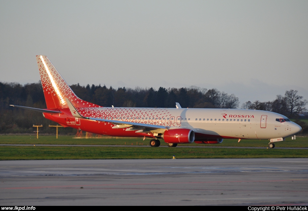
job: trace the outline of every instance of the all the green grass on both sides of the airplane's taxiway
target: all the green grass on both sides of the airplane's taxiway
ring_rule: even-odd
[[[73,139],[72,136],[0,135],[0,144],[79,144],[79,145],[149,145],[150,139],[101,138]],[[57,146],[0,146],[0,160],[31,159],[171,159],[181,158],[307,158],[306,149],[279,149],[279,147],[308,147],[307,137],[287,138],[267,149],[268,140],[224,139],[221,144],[183,144],[186,146],[216,146],[219,148],[180,147],[57,147]],[[161,140],[161,145],[166,145]],[[180,146],[180,145],[178,145]],[[264,147],[263,149],[224,148]]]

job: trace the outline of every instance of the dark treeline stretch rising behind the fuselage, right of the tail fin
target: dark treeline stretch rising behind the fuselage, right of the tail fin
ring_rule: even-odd
[[[175,108],[179,102],[182,108],[237,108],[238,97],[234,94],[220,92],[217,89],[189,88],[151,88],[135,89],[119,87],[107,88],[105,85],[71,85],[75,94],[85,101],[100,106]]]

